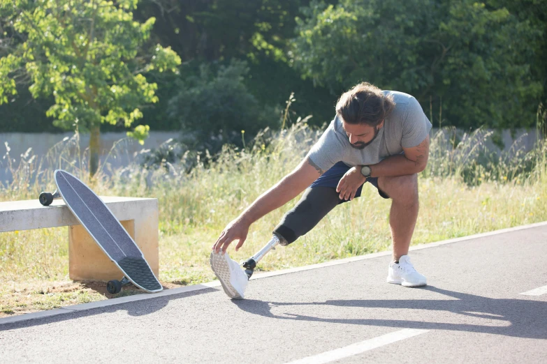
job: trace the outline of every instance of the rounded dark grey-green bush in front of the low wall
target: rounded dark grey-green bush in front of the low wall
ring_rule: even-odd
[[[187,144],[194,140],[201,145],[193,148],[214,152],[224,143],[242,144],[245,132],[252,137],[277,123],[279,113],[261,107],[247,90],[248,73],[245,61],[201,63],[197,75],[177,82],[179,91],[169,102],[168,114],[179,121],[184,135],[191,135],[183,138]]]

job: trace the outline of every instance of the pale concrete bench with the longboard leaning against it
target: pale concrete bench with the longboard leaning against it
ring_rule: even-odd
[[[158,276],[158,200],[134,197],[103,197],[106,206],[122,223]],[[42,206],[38,198],[0,202],[0,232],[68,226],[69,275],[72,280],[121,279],[122,272],[80,225],[62,199]]]

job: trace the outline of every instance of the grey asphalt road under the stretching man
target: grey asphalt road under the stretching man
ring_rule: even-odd
[[[0,362],[547,363],[547,225],[410,257],[427,287],[383,256],[2,324]]]

